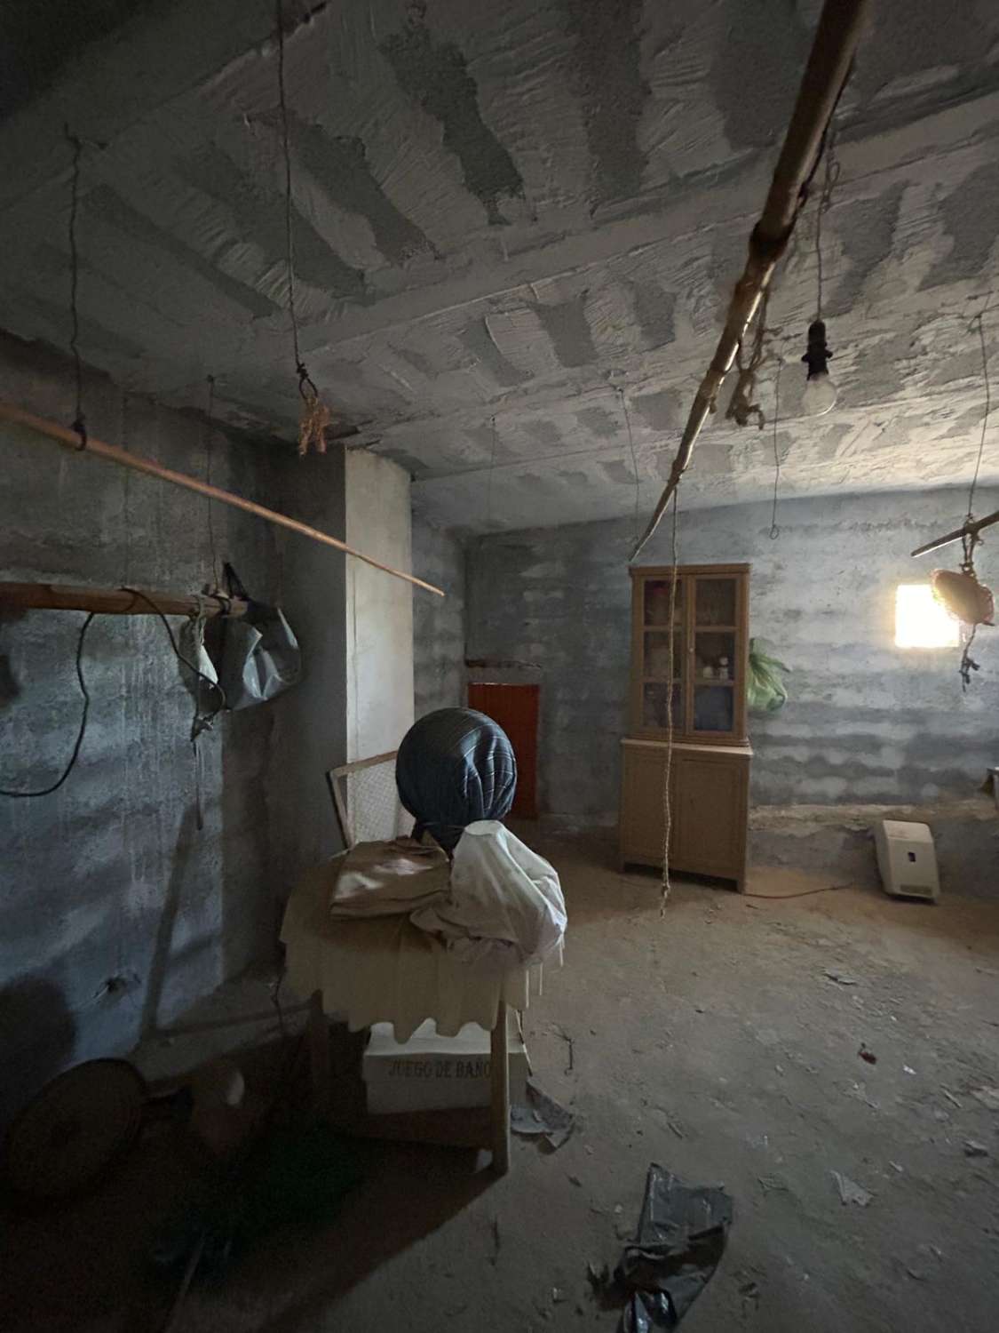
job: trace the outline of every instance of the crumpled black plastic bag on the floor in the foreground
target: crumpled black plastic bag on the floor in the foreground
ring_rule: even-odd
[[[614,1270],[623,1296],[621,1333],[671,1329],[711,1280],[733,1218],[730,1196],[717,1186],[687,1186],[658,1162],[649,1166],[638,1233]],[[606,1269],[587,1265],[594,1290],[611,1294]]]

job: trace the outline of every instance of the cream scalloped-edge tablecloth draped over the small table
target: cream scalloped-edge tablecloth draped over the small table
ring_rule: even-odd
[[[336,860],[336,858],[334,858]],[[390,1022],[408,1041],[425,1018],[453,1037],[466,1022],[496,1026],[497,1006],[527,1008],[541,994],[541,968],[489,960],[468,966],[405,916],[345,921],[329,916],[329,864],[308,872],[288,901],[281,940],[288,984],[322,992],[322,1008],[352,1032]],[[533,986],[531,986],[533,982]]]

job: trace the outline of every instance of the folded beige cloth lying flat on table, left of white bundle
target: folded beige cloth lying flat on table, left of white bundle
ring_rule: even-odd
[[[412,837],[358,842],[322,869],[332,878],[329,914],[348,918],[408,914],[442,901],[450,876],[440,846],[422,846]]]

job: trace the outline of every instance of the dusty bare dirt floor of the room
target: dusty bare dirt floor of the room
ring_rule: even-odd
[[[682,881],[661,917],[655,876],[617,873],[606,844],[535,845],[562,874],[570,929],[526,1034],[538,1081],[578,1117],[573,1138],[555,1153],[514,1138],[501,1181],[485,1154],[360,1148],[365,1180],[334,1222],[192,1288],[177,1329],[614,1329],[587,1262],[617,1261],[658,1161],[734,1198],[690,1333],[991,1333],[999,901],[778,901],[835,873],[759,870],[750,889],[770,901]],[[216,1006],[261,1012],[253,1030],[273,1036],[266,994],[229,986]],[[190,1026],[141,1053],[148,1073],[233,1041],[210,1006]],[[7,1217],[0,1326],[163,1328],[176,1281],[152,1281],[145,1254],[190,1180],[173,1133],[148,1133],[99,1194]],[[834,1172],[870,1201],[842,1202]]]

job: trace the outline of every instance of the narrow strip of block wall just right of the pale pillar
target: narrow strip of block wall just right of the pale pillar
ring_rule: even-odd
[[[468,702],[465,673],[465,547],[413,516],[413,573],[444,588],[444,599],[413,591],[416,716]]]

